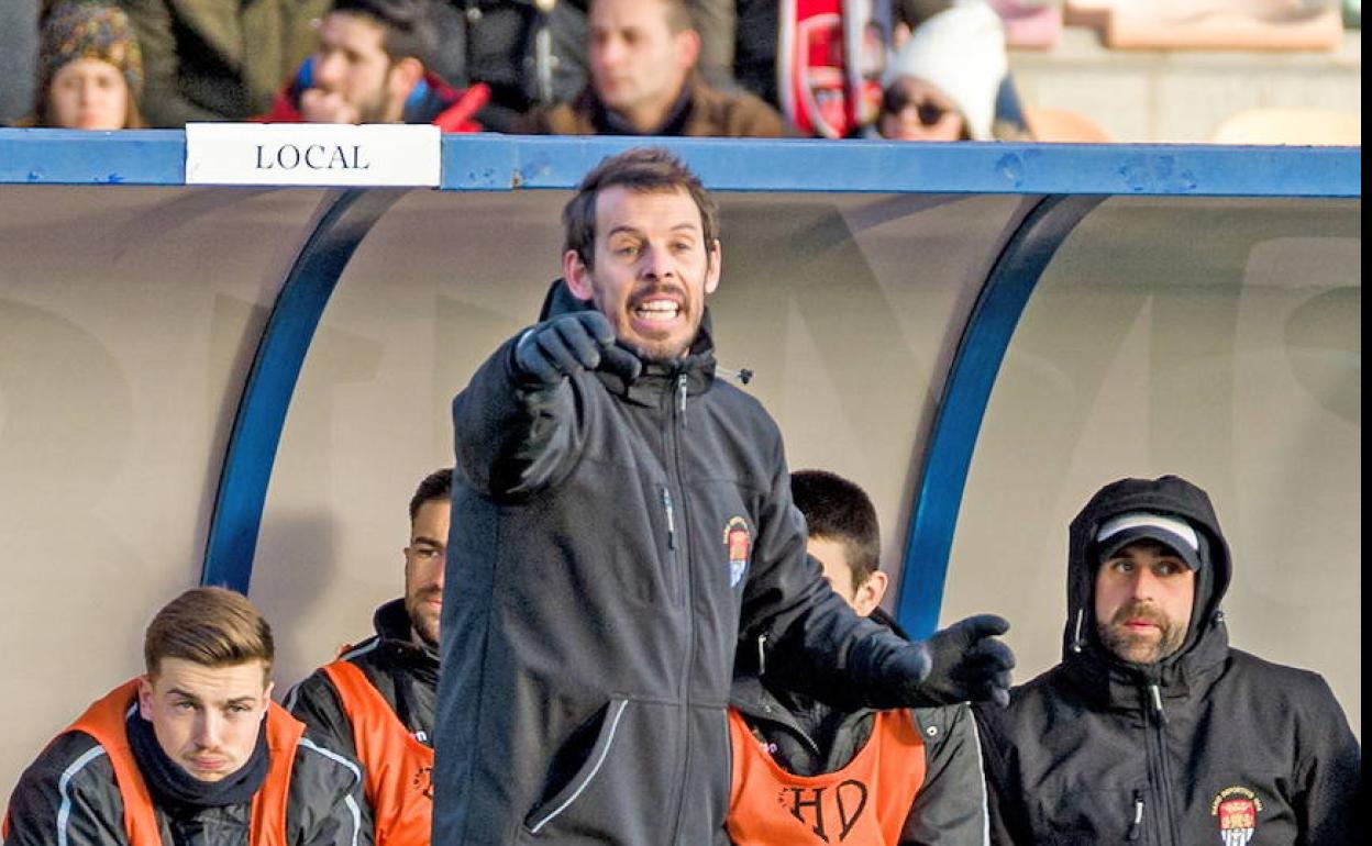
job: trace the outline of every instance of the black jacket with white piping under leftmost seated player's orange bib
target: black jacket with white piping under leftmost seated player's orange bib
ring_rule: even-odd
[[[141,720],[130,710],[129,720]],[[152,769],[140,765],[144,779]],[[156,784],[150,783],[156,793]],[[248,846],[251,803],[159,805],[163,846]],[[302,739],[287,794],[288,846],[369,846],[372,823],[357,764]],[[52,740],[23,772],[10,799],[4,846],[129,846],[114,765],[91,735]]]

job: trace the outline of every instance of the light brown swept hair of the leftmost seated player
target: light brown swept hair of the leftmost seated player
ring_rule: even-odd
[[[270,676],[276,646],[272,627],[247,596],[222,587],[198,587],[163,606],[143,635],[143,662],[150,676],[158,675],[165,658],[202,666],[262,661]]]

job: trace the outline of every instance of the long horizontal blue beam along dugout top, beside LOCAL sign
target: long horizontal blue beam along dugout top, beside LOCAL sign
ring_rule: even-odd
[[[679,152],[713,191],[1361,197],[1357,147],[445,136],[443,188],[575,188],[606,155]],[[0,129],[0,185],[185,181],[185,133]]]

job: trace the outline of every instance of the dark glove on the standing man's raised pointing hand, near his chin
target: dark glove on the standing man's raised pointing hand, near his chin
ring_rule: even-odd
[[[578,370],[638,376],[638,356],[615,346],[615,328],[600,311],[573,311],[543,321],[514,344],[516,372],[539,385],[557,385]]]

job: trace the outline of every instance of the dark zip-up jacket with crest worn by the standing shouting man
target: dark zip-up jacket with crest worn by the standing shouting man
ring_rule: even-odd
[[[584,307],[556,284],[553,315]],[[870,692],[845,670],[884,629],[805,555],[781,433],[705,321],[631,383],[531,388],[512,339],[453,400],[435,843],[720,842],[741,635],[788,684]]]

